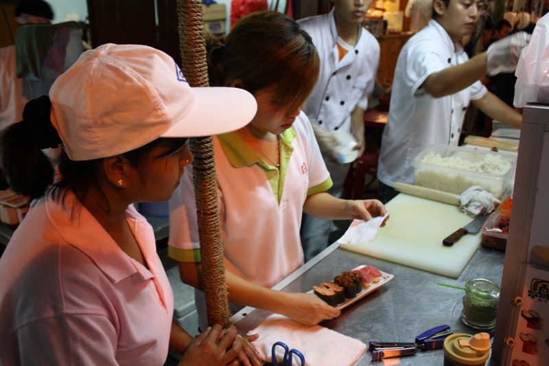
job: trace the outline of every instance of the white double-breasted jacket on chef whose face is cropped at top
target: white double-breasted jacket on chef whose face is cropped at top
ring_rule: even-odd
[[[334,10],[298,21],[312,38],[320,56],[320,76],[303,111],[312,122],[329,131],[351,131],[351,112],[358,106],[366,109],[373,93],[379,43],[360,27],[356,45],[339,60],[338,31]]]

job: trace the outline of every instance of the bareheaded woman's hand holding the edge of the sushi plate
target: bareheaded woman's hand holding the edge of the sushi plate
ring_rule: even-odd
[[[281,293],[285,297],[285,306],[278,311],[298,323],[315,325],[320,321],[334,319],[341,311],[329,306],[320,297],[310,293]]]

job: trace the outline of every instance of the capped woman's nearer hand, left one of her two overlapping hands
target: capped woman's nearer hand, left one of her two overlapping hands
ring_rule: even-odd
[[[237,334],[236,328],[233,326],[220,337],[222,332],[221,325],[215,324],[196,336],[196,339],[187,345],[183,358],[181,358],[178,365],[240,365],[239,356],[244,343],[242,336]],[[250,364],[248,363],[248,365]]]

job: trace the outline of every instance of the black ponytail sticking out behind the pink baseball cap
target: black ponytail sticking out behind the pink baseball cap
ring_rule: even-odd
[[[51,102],[44,95],[25,105],[23,121],[5,128],[0,137],[3,171],[12,190],[40,198],[54,183],[54,166],[42,149],[61,144],[50,120]]]

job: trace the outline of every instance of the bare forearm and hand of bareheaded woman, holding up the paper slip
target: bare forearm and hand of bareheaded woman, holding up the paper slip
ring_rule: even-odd
[[[377,200],[343,200],[320,192],[305,198],[303,212],[325,220],[371,220],[384,216],[387,211],[383,203]],[[385,222],[382,224],[385,225]]]

